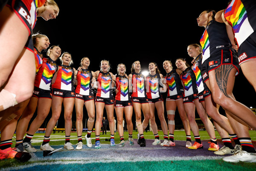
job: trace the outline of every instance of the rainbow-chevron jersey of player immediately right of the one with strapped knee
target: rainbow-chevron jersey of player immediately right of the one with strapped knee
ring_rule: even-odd
[[[180,74],[180,79],[183,82],[184,97],[198,93],[195,74],[190,67]]]

